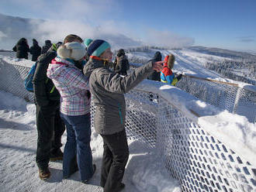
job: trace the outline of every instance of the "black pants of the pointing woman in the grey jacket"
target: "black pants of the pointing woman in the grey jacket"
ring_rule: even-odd
[[[119,191],[129,157],[126,131],[101,136],[104,148],[101,186],[104,187],[104,192],[116,192]]]

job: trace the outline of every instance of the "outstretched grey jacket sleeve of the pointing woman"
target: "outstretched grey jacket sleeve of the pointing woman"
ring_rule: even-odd
[[[109,92],[125,94],[133,87],[136,87],[153,71],[153,62],[150,61],[144,66],[135,69],[126,77],[121,77],[119,74],[112,73],[107,69],[103,70],[100,74],[97,74],[97,71],[95,70],[93,73],[101,87],[104,87]]]

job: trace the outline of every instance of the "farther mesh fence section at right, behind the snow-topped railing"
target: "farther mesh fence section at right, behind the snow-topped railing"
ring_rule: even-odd
[[[217,108],[243,115],[256,122],[256,92],[229,84],[183,77],[177,87]]]

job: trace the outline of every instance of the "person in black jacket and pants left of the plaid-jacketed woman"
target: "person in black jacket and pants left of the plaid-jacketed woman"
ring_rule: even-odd
[[[64,43],[82,39],[76,35],[66,36]],[[61,95],[54,87],[53,81],[47,77],[47,68],[51,60],[57,57],[56,44],[37,59],[36,71],[33,77],[33,89],[36,101],[36,127],[38,132],[36,164],[41,180],[50,178],[49,161],[63,159],[61,152],[61,136],[65,127],[60,117]]]

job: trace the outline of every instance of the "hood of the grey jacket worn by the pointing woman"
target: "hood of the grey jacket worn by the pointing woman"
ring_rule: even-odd
[[[106,60],[101,60],[99,57],[91,56],[88,62],[85,64],[85,67],[83,70],[85,76],[89,78],[92,74],[92,71],[99,67],[108,68],[109,62],[108,63],[106,62],[107,62]]]

